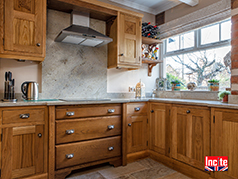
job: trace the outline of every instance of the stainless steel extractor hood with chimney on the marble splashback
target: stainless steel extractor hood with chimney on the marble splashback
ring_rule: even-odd
[[[71,43],[90,47],[101,47],[112,42],[110,37],[89,27],[89,13],[73,11],[72,25],[62,30],[56,37],[56,42]]]

